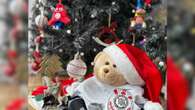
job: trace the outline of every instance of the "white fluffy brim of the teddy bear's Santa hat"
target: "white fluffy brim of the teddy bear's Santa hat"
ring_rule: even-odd
[[[144,80],[139,76],[134,65],[127,55],[116,45],[109,46],[103,50],[117,65],[117,68],[128,83],[132,85],[144,85]]]

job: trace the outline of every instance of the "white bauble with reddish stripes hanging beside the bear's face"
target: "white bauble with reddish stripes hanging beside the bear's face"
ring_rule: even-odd
[[[68,63],[66,70],[68,75],[75,79],[81,79],[85,76],[87,66],[79,53],[75,54],[74,59]]]

